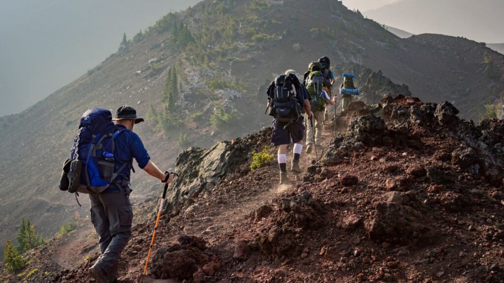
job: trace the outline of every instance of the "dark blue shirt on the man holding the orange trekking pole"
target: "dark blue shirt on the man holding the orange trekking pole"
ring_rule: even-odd
[[[151,157],[147,153],[138,134],[134,133],[132,130],[126,129],[123,125],[116,126],[117,130],[122,130],[122,132],[115,139],[115,170],[119,170],[124,163],[129,163],[121,172],[118,172],[119,175],[114,180],[114,182],[120,184],[120,182],[130,181],[133,159],[137,161],[138,167],[144,169]],[[111,185],[103,192],[117,191],[119,191],[119,188]]]

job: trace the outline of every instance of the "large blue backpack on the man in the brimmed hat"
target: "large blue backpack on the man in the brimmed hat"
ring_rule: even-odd
[[[114,170],[114,140],[124,130],[117,130],[108,110],[93,108],[82,115],[69,160],[69,192],[100,193],[130,164]]]

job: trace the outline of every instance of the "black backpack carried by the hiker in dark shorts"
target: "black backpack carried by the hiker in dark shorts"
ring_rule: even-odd
[[[280,122],[293,122],[301,112],[297,93],[300,90],[299,80],[295,75],[282,75],[275,79],[274,93],[270,97],[269,114]]]

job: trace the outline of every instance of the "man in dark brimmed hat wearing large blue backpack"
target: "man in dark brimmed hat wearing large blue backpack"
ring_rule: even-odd
[[[161,182],[173,180],[173,174],[163,173],[150,160],[142,140],[133,132],[134,125],[143,121],[131,106],[119,107],[114,119],[105,109],[86,111],[74,140],[72,158],[64,163],[60,189],[75,192],[76,198],[79,192],[89,195],[91,222],[101,252],[89,274],[98,283],[116,280],[120,254],[132,236],[133,159]]]

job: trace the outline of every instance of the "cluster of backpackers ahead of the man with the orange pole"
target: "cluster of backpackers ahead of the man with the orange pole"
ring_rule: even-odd
[[[358,94],[358,91],[352,91],[355,89],[353,75],[344,74],[343,77],[344,82],[340,90],[342,111],[346,110],[353,95]],[[318,159],[317,148],[320,149],[322,146],[322,131],[324,124],[330,120],[331,109],[334,110],[336,127],[337,96],[332,91],[335,83],[336,77],[331,70],[331,61],[324,56],[308,65],[302,83],[299,82],[296,72],[289,69],[268,87],[267,112],[274,117],[271,142],[274,146],[278,146],[280,184],[291,182],[287,176],[287,147],[294,144],[290,169],[297,179],[297,175],[301,173],[299,167],[303,149],[301,141],[306,139],[306,153],[310,154],[314,150]]]

